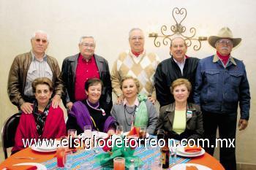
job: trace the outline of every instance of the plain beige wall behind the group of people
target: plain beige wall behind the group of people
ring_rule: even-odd
[[[65,57],[78,53],[78,39],[92,35],[97,41],[96,53],[110,63],[118,53],[127,50],[127,34],[130,28],[140,27],[146,34],[154,26],[174,23],[171,11],[174,7],[185,7],[188,15],[184,26],[198,28],[206,36],[217,34],[222,26],[229,26],[234,36],[242,43],[233,51],[233,56],[244,61],[252,95],[249,127],[237,132],[237,161],[256,163],[256,112],[255,104],[255,35],[256,2],[254,0],[110,0],[110,1],[65,1],[65,0],[0,0],[0,126],[4,120],[17,112],[7,96],[7,75],[15,55],[30,50],[33,31],[42,29],[50,34],[48,54],[53,55],[61,66]],[[154,47],[153,39],[146,38],[146,49],[156,52],[163,60],[169,57],[168,47]],[[188,55],[203,58],[214,53],[206,42],[200,51],[189,49]]]

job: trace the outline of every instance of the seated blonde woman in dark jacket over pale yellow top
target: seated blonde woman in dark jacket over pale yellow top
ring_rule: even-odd
[[[187,102],[191,89],[187,79],[173,81],[170,92],[175,102],[161,107],[157,130],[163,129],[173,139],[199,139],[203,136],[203,115],[200,107]]]

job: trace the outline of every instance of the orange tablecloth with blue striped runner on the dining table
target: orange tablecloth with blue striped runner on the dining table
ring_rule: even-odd
[[[73,153],[73,161],[71,169],[80,169],[80,164],[87,161],[91,163],[93,169],[104,169],[98,162],[94,160],[95,156],[104,152],[102,148],[96,147],[91,150],[78,149]],[[154,161],[154,158],[159,157],[161,154],[159,147],[136,147],[134,155],[141,158],[143,164]],[[8,169],[8,167],[18,163],[40,163],[46,167],[46,169],[58,169],[56,152],[37,152],[27,147],[0,163],[0,170]],[[206,166],[213,170],[225,170],[216,158],[205,152],[203,155],[197,157],[182,157],[176,156],[176,163],[171,163],[169,169],[176,166],[179,163],[196,163],[202,166]],[[149,167],[149,166],[148,166]],[[28,169],[26,166],[19,166],[19,170]]]

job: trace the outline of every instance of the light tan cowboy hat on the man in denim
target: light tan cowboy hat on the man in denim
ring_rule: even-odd
[[[211,47],[215,48],[215,43],[219,39],[231,39],[233,42],[233,47],[236,47],[241,42],[241,38],[233,38],[232,31],[228,27],[223,27],[219,30],[219,33],[217,36],[209,36],[208,42],[211,45]]]

